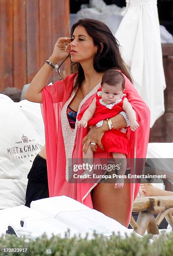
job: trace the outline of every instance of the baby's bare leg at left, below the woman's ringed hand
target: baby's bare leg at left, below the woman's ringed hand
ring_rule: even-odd
[[[84,144],[85,146],[85,144]],[[85,172],[84,174],[93,174],[93,151],[91,150],[90,146],[88,147],[88,150],[86,154],[83,154],[83,163],[85,164]]]

